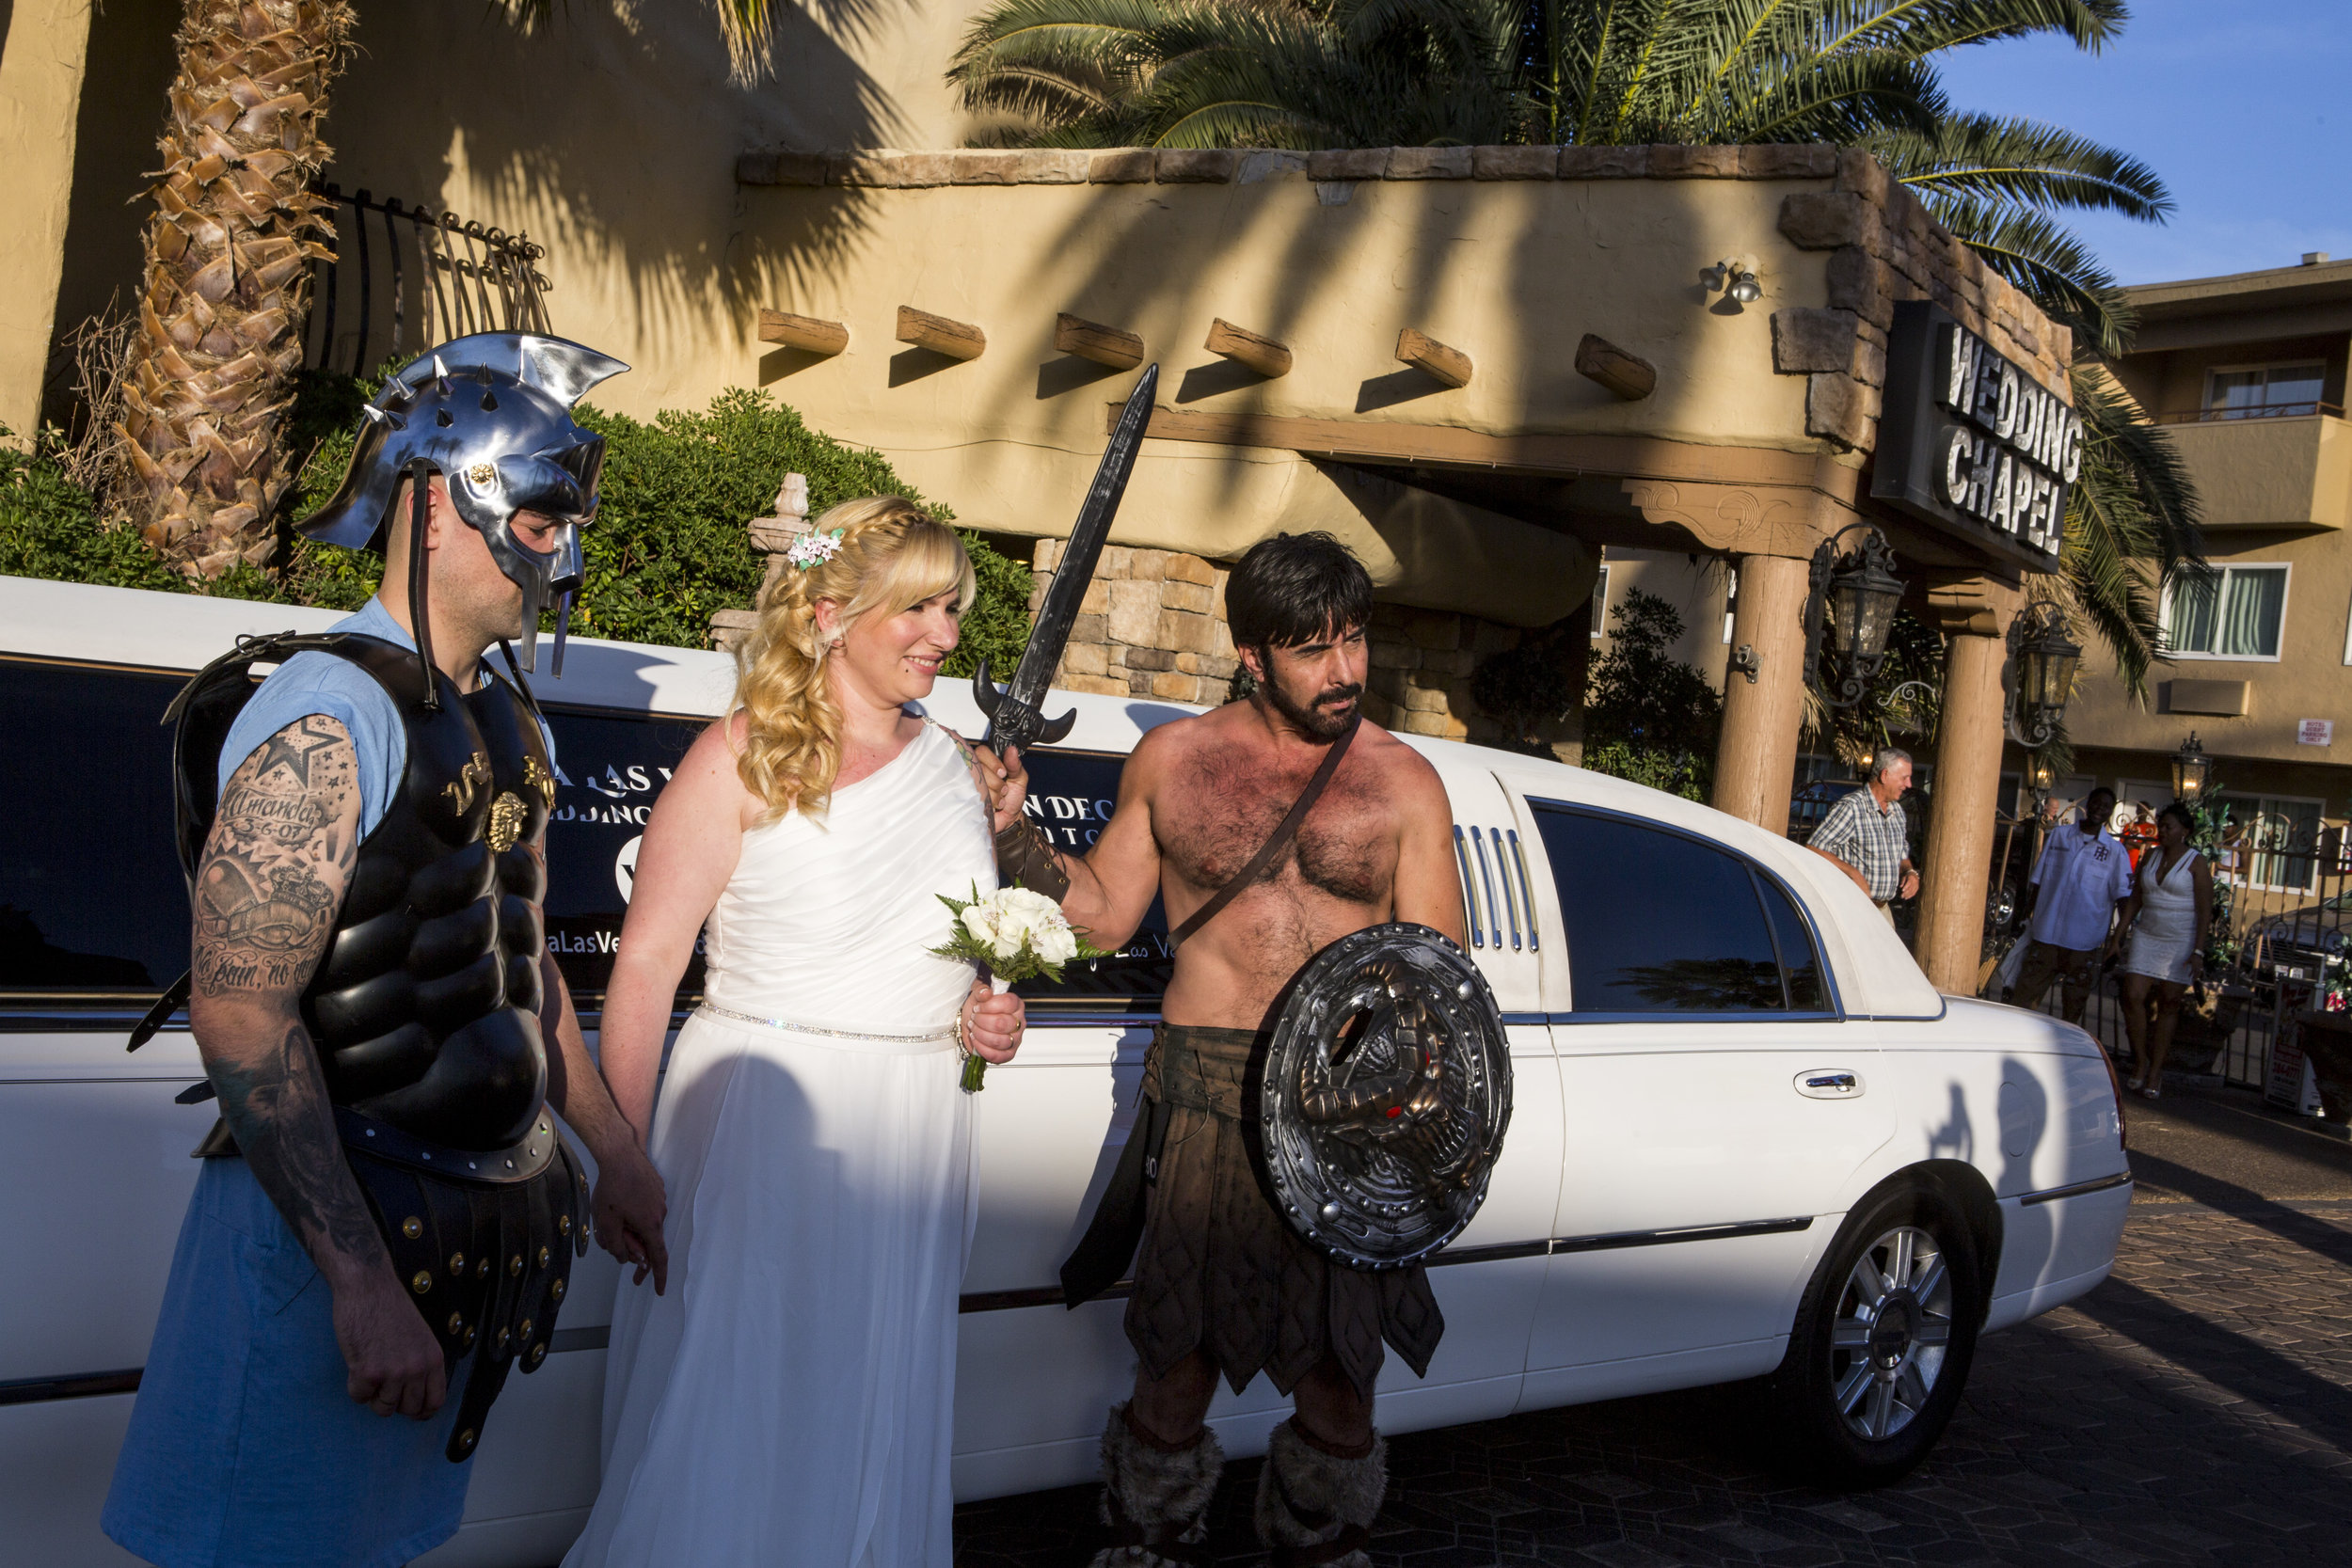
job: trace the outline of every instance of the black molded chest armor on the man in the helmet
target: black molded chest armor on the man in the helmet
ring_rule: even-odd
[[[456,1150],[503,1150],[548,1093],[539,1037],[555,769],[527,701],[492,677],[473,693],[416,656],[350,635],[325,649],[400,708],[407,769],[360,839],[334,938],[303,992],[336,1105]]]

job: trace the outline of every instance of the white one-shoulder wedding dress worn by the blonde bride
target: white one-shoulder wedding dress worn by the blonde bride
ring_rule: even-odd
[[[974,884],[988,813],[929,722],[823,820],[743,835],[654,1112],[670,1286],[621,1276],[564,1568],[950,1568],[971,966],[927,950]]]

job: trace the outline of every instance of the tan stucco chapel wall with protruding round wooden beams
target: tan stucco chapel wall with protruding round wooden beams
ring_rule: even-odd
[[[1783,195],[1778,181],[1310,181],[1284,155],[1232,183],[753,188],[746,306],[847,322],[849,350],[762,353],[750,308],[736,341],[814,423],[1014,534],[1068,529],[1129,386],[1054,353],[1058,310],[1141,334],[1162,404],[1185,414],[1813,451],[1804,378],[1773,374],[1771,310],[1818,301],[1825,261],[1776,242]],[[811,259],[807,237],[835,233],[844,247]],[[1738,252],[1759,254],[1766,299],[1733,315],[1700,273]],[[901,303],[981,327],[988,353],[908,350]],[[1294,371],[1263,381],[1207,353],[1214,317],[1291,346]],[[1404,327],[1468,353],[1470,386],[1402,367]],[[1585,331],[1656,362],[1658,393],[1628,404],[1578,376]],[[1230,559],[1277,527],[1350,536],[1432,609],[1534,625],[1590,588],[1564,536],[1265,447],[1148,442],[1117,538]]]

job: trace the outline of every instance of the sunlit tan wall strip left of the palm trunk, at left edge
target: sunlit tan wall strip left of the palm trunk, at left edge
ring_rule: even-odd
[[[0,47],[0,425],[19,444],[40,423],[56,329],[89,14],[89,0],[16,0]]]

